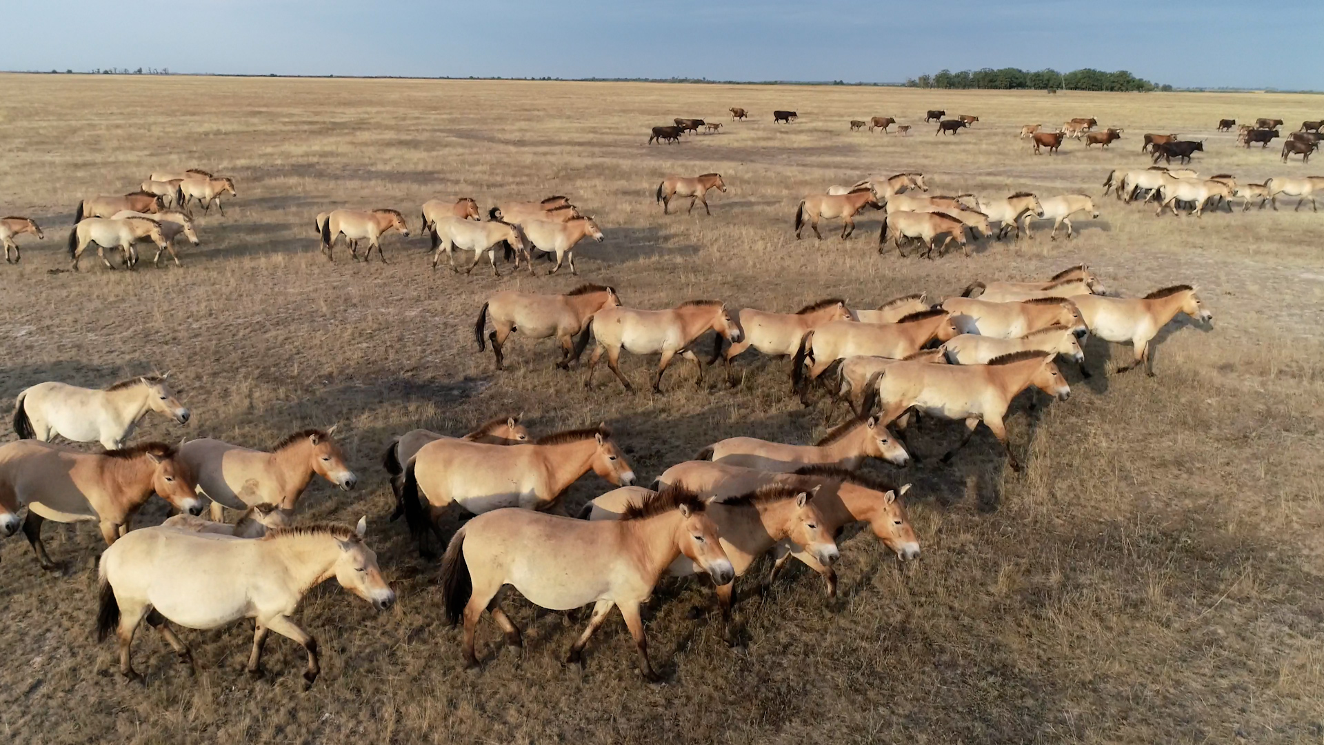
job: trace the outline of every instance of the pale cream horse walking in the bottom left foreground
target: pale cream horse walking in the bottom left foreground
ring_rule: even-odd
[[[200,536],[172,528],[135,530],[101,555],[101,610],[97,639],[119,639],[119,672],[140,676],[130,663],[134,631],[147,624],[160,632],[179,660],[193,665],[193,655],[169,624],[218,628],[241,618],[254,623],[248,673],[262,676],[262,647],[269,632],[294,640],[308,654],[305,689],[318,679],[318,643],[294,623],[299,601],[312,587],[335,577],[342,587],[387,610],[396,594],[381,577],[377,554],[364,542],[367,520],[344,525],[301,525],[270,530],[258,540]],[[224,581],[199,582],[207,566]]]

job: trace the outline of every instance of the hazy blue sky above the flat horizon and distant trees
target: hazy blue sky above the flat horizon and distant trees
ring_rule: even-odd
[[[1324,89],[1324,0],[17,0],[0,69],[894,82],[1125,69]]]

